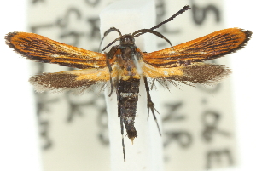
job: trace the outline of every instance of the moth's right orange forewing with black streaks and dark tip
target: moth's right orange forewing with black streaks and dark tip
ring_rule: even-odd
[[[172,48],[149,54],[143,53],[143,60],[145,63],[156,67],[173,67],[186,61],[213,60],[243,48],[251,34],[251,31],[244,31],[239,28],[215,31],[207,36],[196,38]]]

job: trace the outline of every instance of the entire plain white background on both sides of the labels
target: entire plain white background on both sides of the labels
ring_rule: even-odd
[[[226,28],[240,27],[256,34],[254,2],[226,0]],[[32,87],[26,83],[29,65],[5,44],[3,37],[10,31],[26,31],[26,1],[9,0],[0,6],[1,46],[1,110],[0,170],[40,170],[37,120]],[[253,35],[254,37],[254,35]],[[242,49],[242,55],[230,58],[233,74],[234,110],[241,165],[225,170],[255,170],[256,111],[255,49],[256,41]]]

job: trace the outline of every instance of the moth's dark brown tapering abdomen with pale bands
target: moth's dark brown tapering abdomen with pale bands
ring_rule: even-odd
[[[128,138],[133,140],[137,137],[134,127],[134,120],[137,111],[137,100],[139,93],[140,80],[130,78],[119,81],[119,117],[123,118]]]

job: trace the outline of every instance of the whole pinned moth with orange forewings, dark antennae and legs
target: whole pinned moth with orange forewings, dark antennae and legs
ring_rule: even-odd
[[[246,45],[252,35],[251,31],[229,28],[172,47],[166,37],[154,30],[188,9],[190,9],[189,6],[184,6],[183,9],[160,24],[150,29],[135,31],[132,34],[122,35],[114,27],[108,29],[105,31],[104,37],[109,32],[116,31],[119,33],[119,38],[109,43],[102,51],[116,41],[120,43],[105,54],[58,43],[34,33],[10,32],[5,39],[9,48],[13,48],[15,52],[29,60],[80,69],[43,73],[31,77],[29,83],[32,83],[38,92],[63,89],[84,91],[98,83],[102,83],[104,86],[110,84],[109,96],[114,91],[117,94],[121,134],[124,134],[125,124],[127,136],[133,141],[137,137],[134,123],[141,79],[143,79],[147,92],[148,109],[152,112],[160,131],[155,117],[154,103],[149,93],[148,79],[156,80],[164,85],[166,83],[177,85],[176,82],[188,85],[218,83],[230,74],[230,69],[224,65],[208,64],[203,61],[217,59],[225,54],[236,52]],[[165,39],[167,43],[171,44],[171,48],[152,53],[142,52],[135,45],[135,37],[144,33],[152,33]],[[152,83],[154,84],[154,81]],[[122,143],[125,160],[124,138],[122,138]]]

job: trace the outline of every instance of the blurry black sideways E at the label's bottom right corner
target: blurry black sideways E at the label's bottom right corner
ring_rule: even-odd
[[[234,160],[230,150],[225,149],[221,151],[207,151],[207,170],[232,165],[234,165]]]

